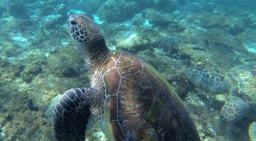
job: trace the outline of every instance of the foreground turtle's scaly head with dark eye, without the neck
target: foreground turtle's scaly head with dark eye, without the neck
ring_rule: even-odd
[[[73,14],[68,18],[71,38],[79,45],[99,41],[103,38],[101,31],[84,14]]]

